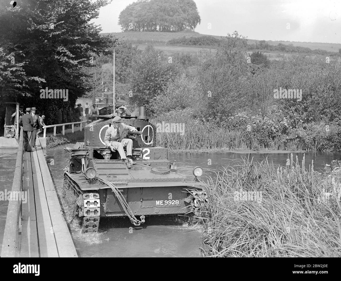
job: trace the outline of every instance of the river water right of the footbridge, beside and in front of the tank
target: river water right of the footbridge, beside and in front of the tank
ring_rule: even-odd
[[[47,149],[45,153],[60,195],[69,153],[63,149]],[[201,232],[201,226],[189,227],[166,216],[147,217],[144,225],[134,228],[127,218],[101,218],[98,233],[81,234],[80,226],[71,227],[80,257],[202,257]]]

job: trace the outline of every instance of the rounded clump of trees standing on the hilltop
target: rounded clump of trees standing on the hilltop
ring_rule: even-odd
[[[139,0],[119,15],[123,31],[193,30],[200,17],[193,0]]]

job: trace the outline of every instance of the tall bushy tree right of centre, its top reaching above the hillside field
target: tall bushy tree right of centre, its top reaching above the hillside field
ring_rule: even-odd
[[[224,120],[247,105],[248,64],[245,37],[235,31],[219,45],[216,56],[208,60],[199,74],[202,101],[196,115]]]

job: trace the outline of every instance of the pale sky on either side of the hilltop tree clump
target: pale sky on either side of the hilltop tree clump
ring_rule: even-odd
[[[136,0],[113,0],[100,9],[102,32],[121,32],[120,12]],[[340,0],[194,0],[201,23],[194,31],[249,39],[341,43]]]

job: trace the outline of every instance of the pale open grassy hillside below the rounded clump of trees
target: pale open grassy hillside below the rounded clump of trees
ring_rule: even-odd
[[[109,33],[103,33],[103,34],[109,34]],[[140,44],[148,44],[153,43],[155,45],[166,45],[168,40],[170,39],[176,39],[181,38],[183,36],[186,37],[200,37],[200,36],[213,36],[217,39],[221,39],[224,36],[214,36],[214,35],[206,35],[206,34],[200,34],[195,31],[191,30],[184,30],[180,32],[138,32],[138,31],[128,31],[128,32],[116,32],[116,33],[110,33],[116,37],[123,38],[127,42],[131,42],[133,44],[138,45],[139,48],[142,48]],[[262,40],[262,39],[259,39]],[[247,39],[248,44],[254,44],[256,41],[255,39]],[[341,44],[335,44],[335,43],[316,43],[316,42],[290,42],[290,41],[266,41],[269,45],[278,45],[279,43],[282,43],[284,45],[292,44],[293,46],[300,46],[309,48],[311,50],[315,49],[322,49],[326,50],[328,52],[339,52],[339,49],[341,48]],[[169,46],[169,47],[176,47],[176,46]],[[179,47],[182,48],[182,47]],[[190,48],[190,49],[183,49],[183,50],[176,50],[176,51],[190,51],[190,52],[196,52],[197,47],[184,47],[184,48]],[[164,48],[167,52],[167,48]],[[194,50],[195,49],[195,50]],[[170,51],[174,52],[174,50]]]

